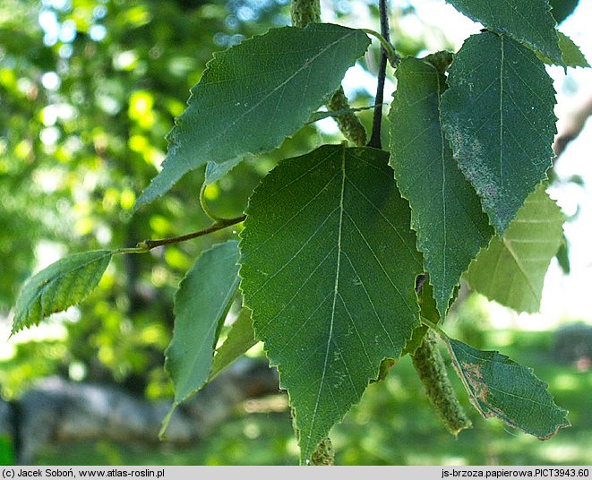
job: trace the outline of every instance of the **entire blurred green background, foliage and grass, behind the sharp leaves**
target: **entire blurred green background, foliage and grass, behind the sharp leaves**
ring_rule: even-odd
[[[323,16],[346,25],[367,17],[365,27],[378,30],[377,7],[371,2],[330,0],[325,7]],[[288,10],[287,0],[0,3],[0,331],[8,335],[11,308],[24,280],[58,257],[133,246],[210,224],[199,204],[202,170],[135,214],[133,203],[157,173],[167,150],[166,134],[212,52],[287,24]],[[408,4],[394,7],[392,23],[402,55],[419,54],[428,38],[450,47],[445,30],[417,30],[414,15]],[[378,66],[375,43],[360,62],[369,73]],[[369,88],[360,85],[350,95],[353,107],[372,104]],[[368,127],[372,111],[360,117]],[[387,131],[388,125],[383,128]],[[305,126],[278,150],[256,161],[246,159],[210,185],[206,198],[211,209],[236,216],[279,159],[305,153],[319,141],[339,140],[318,124]],[[82,305],[56,315],[47,329],[19,333],[10,348],[3,345],[0,395],[18,399],[32,381],[59,373],[73,380],[116,381],[150,399],[170,397],[163,351],[173,326],[173,293],[203,249],[230,237],[236,231],[223,230],[148,255],[118,256]],[[485,335],[486,322],[476,318],[485,316],[471,302],[459,304],[456,323],[447,325],[450,334],[475,347],[500,347]],[[589,403],[584,395],[592,386],[589,373],[560,373],[545,356],[545,341],[531,334],[516,337],[503,352],[536,365],[541,378],[562,379],[551,390],[557,392],[558,404],[573,406],[577,418],[571,416],[571,421],[579,425],[559,433],[559,440],[570,439],[562,443],[563,453],[475,416],[476,429],[450,441],[406,357],[335,428],[337,463],[592,463],[592,417],[587,413],[592,404],[582,403]],[[428,442],[433,445],[429,452]],[[12,455],[9,442],[0,439],[0,463],[11,463]],[[297,447],[287,410],[272,409],[245,410],[197,446],[163,444],[146,450],[145,445],[99,441],[56,445],[39,456],[39,464],[47,465],[147,462],[297,464]]]

